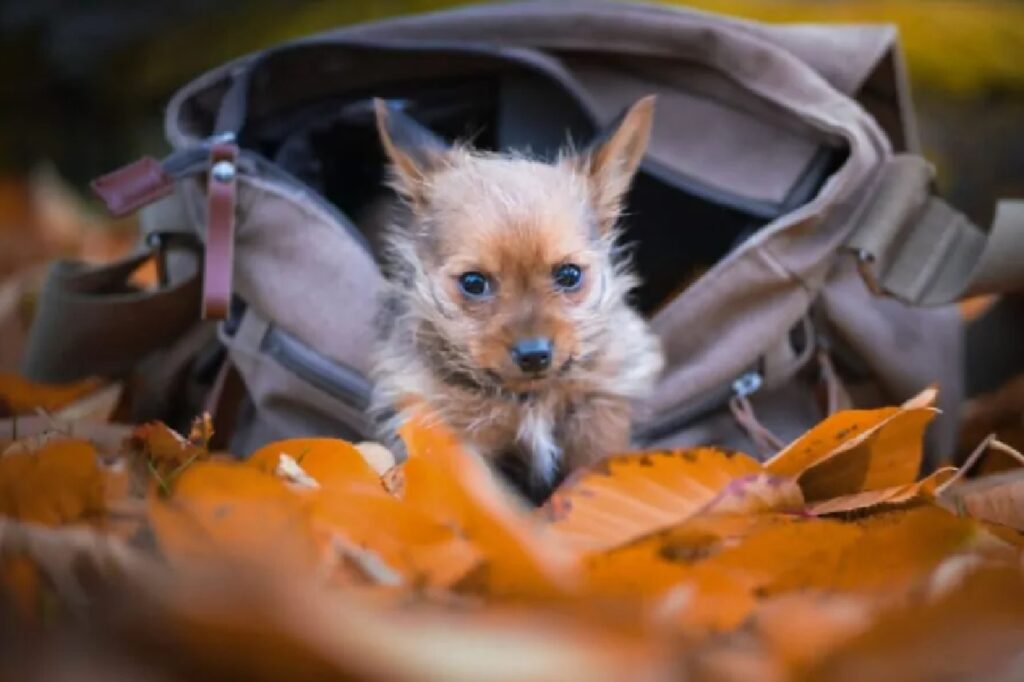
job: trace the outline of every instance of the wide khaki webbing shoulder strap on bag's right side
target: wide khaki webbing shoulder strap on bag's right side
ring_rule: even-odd
[[[913,305],[1024,289],[1024,201],[1002,201],[985,230],[932,194],[934,171],[893,157],[855,218],[847,247],[868,287]]]

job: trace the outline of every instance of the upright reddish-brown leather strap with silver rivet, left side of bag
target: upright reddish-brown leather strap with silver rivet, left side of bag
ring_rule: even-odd
[[[229,142],[215,143],[210,150],[203,270],[204,319],[225,318],[231,300],[238,156],[239,147]]]

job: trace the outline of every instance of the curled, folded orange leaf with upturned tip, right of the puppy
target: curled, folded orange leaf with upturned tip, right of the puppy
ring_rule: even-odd
[[[809,501],[914,482],[936,390],[900,408],[841,412],[765,463],[777,476],[798,476]]]

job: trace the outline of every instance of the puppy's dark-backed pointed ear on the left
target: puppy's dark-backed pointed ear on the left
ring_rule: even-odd
[[[427,177],[447,152],[444,140],[383,99],[374,99],[377,132],[391,162],[394,188],[407,200],[417,202]]]

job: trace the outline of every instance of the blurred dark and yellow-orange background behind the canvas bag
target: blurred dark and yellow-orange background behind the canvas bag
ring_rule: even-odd
[[[182,84],[234,56],[332,27],[460,0],[0,0],[0,370],[12,369],[32,265],[128,248],[88,181],[167,151]],[[693,0],[768,22],[896,24],[942,191],[987,224],[1024,197],[1024,0]],[[12,273],[20,274],[11,280]],[[16,281],[15,281],[16,280]],[[7,314],[5,314],[7,313]],[[28,314],[25,312],[23,317]],[[25,322],[24,319],[22,322]]]

